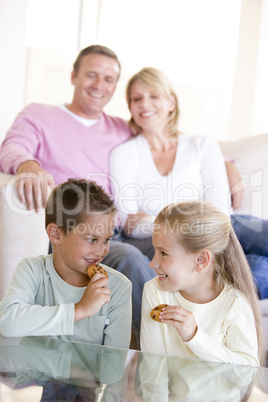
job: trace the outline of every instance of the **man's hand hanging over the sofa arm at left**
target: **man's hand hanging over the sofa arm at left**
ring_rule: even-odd
[[[17,169],[16,188],[19,200],[26,203],[27,209],[39,212],[45,207],[49,191],[53,190],[55,182],[52,174],[47,173],[35,161],[22,163]]]

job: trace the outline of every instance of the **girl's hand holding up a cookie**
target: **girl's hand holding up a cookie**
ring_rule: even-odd
[[[176,328],[183,342],[189,342],[197,331],[193,314],[179,306],[169,306],[162,309],[161,322]]]

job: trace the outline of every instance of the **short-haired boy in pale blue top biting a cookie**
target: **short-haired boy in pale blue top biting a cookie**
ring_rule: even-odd
[[[55,336],[129,347],[131,282],[103,266],[90,280],[87,268],[108,254],[116,207],[95,182],[70,179],[46,205],[52,254],[25,258],[0,303],[0,333]]]

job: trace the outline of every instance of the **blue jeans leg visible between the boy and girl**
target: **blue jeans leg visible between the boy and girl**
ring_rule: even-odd
[[[120,239],[118,237],[118,239]],[[108,255],[102,263],[124,274],[132,282],[132,329],[140,344],[141,299],[145,282],[156,276],[149,259],[138,248],[112,240]]]

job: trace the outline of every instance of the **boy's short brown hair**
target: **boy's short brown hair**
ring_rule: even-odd
[[[69,179],[51,192],[45,209],[45,225],[55,223],[67,234],[90,215],[116,212],[110,195],[94,181]]]

